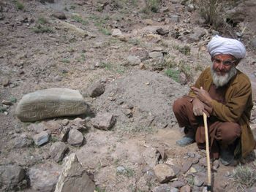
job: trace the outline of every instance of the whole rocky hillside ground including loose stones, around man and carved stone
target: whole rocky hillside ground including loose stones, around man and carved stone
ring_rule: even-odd
[[[87,191],[205,189],[205,151],[176,145],[172,104],[210,64],[214,34],[246,45],[238,69],[256,100],[256,3],[229,1],[233,26],[214,30],[194,1],[161,1],[158,12],[145,2],[0,1],[1,191],[54,191],[68,164],[86,171],[72,183],[88,180]],[[45,88],[80,91],[90,112],[21,122],[20,99]],[[255,169],[255,152],[236,167],[212,162],[214,191],[256,191]]]

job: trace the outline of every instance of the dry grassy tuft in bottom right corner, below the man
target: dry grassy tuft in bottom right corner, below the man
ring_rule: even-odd
[[[256,183],[255,169],[249,166],[237,166],[230,177],[238,188],[238,191],[243,191],[244,188],[249,188]]]

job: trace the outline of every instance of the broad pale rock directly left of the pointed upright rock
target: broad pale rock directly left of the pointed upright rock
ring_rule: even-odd
[[[60,174],[59,166],[43,164],[39,167],[32,167],[29,170],[31,188],[42,192],[54,191]]]

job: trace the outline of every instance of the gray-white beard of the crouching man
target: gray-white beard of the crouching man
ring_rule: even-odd
[[[223,85],[226,85],[227,82],[231,80],[232,77],[236,75],[236,66],[232,66],[230,69],[230,72],[225,74],[224,76],[218,75],[217,72],[214,71],[213,64],[211,64],[211,77],[214,82],[214,85],[217,86],[217,88],[222,87]]]

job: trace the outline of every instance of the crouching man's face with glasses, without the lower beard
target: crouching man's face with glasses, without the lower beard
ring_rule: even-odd
[[[219,54],[212,58],[214,72],[219,76],[225,76],[235,65],[235,58],[232,55]]]

